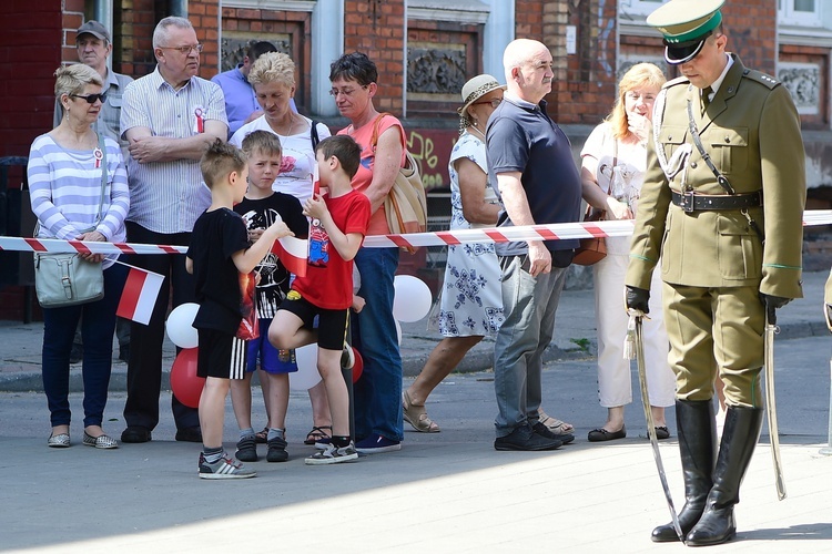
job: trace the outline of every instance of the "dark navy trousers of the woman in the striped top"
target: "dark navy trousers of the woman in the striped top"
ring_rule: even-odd
[[[52,427],[70,424],[69,356],[82,314],[84,427],[100,425],[103,420],[112,369],[115,309],[126,275],[126,267],[115,264],[104,269],[104,297],[101,300],[65,308],[43,308],[41,370]]]

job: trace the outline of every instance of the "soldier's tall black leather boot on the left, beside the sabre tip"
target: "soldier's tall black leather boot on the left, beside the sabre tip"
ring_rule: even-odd
[[[677,400],[676,429],[684,475],[684,507],[679,512],[679,525],[687,535],[704,510],[713,482],[711,473],[717,458],[717,430],[711,400]],[[678,541],[673,522],[660,525],[650,538],[657,543]]]

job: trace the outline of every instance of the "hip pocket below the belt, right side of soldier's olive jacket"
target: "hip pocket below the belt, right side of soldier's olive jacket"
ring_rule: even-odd
[[[758,279],[761,277],[762,245],[754,229],[741,215],[719,215],[718,257],[724,279]]]

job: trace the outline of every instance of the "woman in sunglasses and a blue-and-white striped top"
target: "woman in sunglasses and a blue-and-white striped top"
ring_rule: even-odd
[[[59,68],[55,76],[55,96],[64,116],[55,129],[34,140],[29,153],[29,188],[38,217],[38,238],[123,242],[130,193],[121,150],[109,137],[103,138],[102,150],[94,130],[106,101],[101,93],[101,76],[82,64]],[[106,175],[103,201],[102,172]],[[103,264],[104,297],[79,306],[43,309],[43,389],[52,423],[48,444],[70,445],[69,357],[83,314],[83,443],[118,448],[101,423],[110,383],[115,309],[126,269],[115,264],[118,255],[82,254],[81,258]]]

